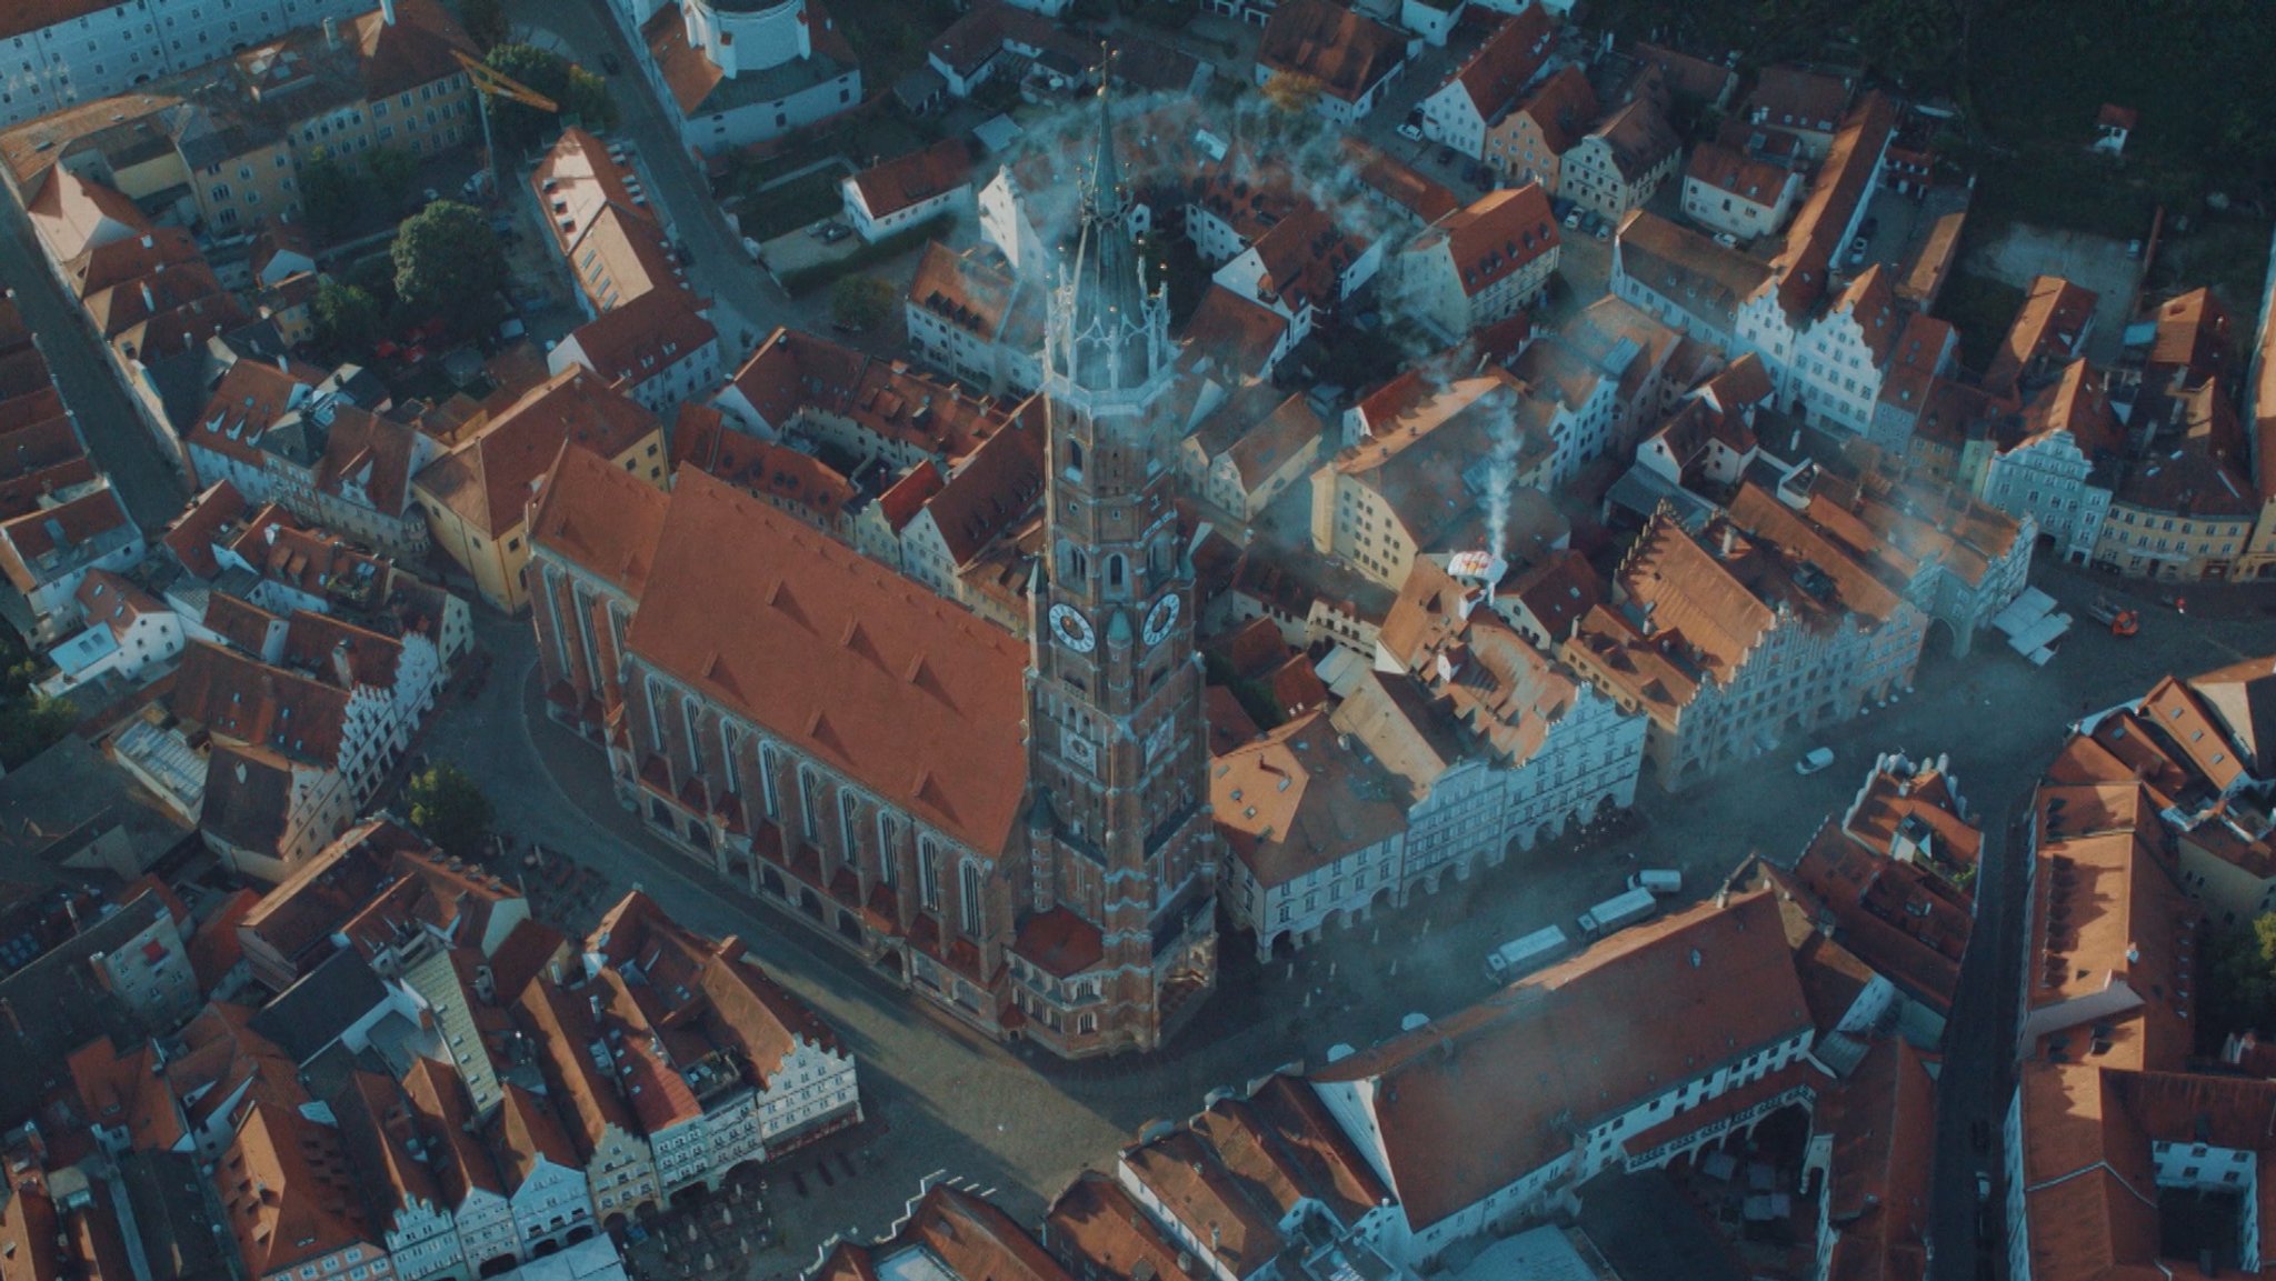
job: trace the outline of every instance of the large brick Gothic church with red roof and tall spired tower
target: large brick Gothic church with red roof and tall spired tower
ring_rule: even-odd
[[[1113,121],[1045,334],[1029,639],[683,466],[564,451],[535,501],[544,687],[715,874],[995,1038],[1152,1051],[1215,985],[1177,348]],[[1020,428],[1036,430],[1036,428]]]

